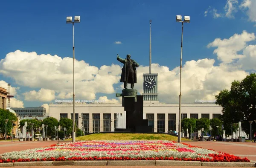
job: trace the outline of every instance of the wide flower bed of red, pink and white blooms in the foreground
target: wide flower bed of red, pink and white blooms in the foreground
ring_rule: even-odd
[[[0,163],[58,160],[250,162],[247,158],[162,140],[84,141],[0,154]]]

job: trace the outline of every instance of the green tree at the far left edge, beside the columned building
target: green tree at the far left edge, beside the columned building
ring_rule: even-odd
[[[5,120],[8,119],[7,124]],[[16,121],[17,117],[11,113],[9,110],[0,109],[0,133],[3,135],[6,133],[9,134],[12,131],[12,121]]]

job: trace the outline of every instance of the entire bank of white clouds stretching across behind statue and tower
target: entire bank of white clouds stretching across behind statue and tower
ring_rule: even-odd
[[[248,42],[255,39],[253,33],[246,31],[231,35],[230,38],[215,38],[208,47],[215,48],[213,53],[220,61],[219,64],[215,63],[215,59],[208,58],[186,61],[183,64],[181,78],[182,102],[215,99],[215,95],[220,90],[230,88],[231,82],[245,78],[249,74],[246,70],[255,72],[256,45],[248,45]],[[31,88],[31,91],[23,94],[26,101],[49,102],[55,98],[72,99],[73,71],[72,68],[65,68],[72,67],[70,59],[72,58],[37,55],[35,52],[17,50],[7,54],[6,58],[0,61],[0,73],[13,78],[20,87]],[[12,68],[15,66],[9,66],[20,62],[23,64],[16,69]],[[76,99],[93,100],[96,99],[96,93],[114,94],[116,93],[114,84],[119,84],[123,88],[123,83],[119,82],[122,68],[119,65],[104,65],[97,68],[84,61],[76,61],[75,66]],[[180,67],[169,69],[166,66],[152,64],[151,71],[158,73],[159,100],[177,103]],[[134,87],[140,94],[143,93],[143,73],[148,73],[147,66],[137,68],[137,84]],[[120,97],[102,96],[98,99],[104,99],[107,103],[121,102]]]

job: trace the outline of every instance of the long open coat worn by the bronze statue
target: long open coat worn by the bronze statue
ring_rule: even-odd
[[[122,58],[117,58],[118,61],[122,62],[124,64],[123,68],[122,68],[122,74],[121,74],[121,79],[120,79],[120,82],[125,82],[126,81],[126,77],[127,77],[127,74],[128,74],[128,66],[127,66],[127,59],[122,59]],[[139,67],[139,64],[132,60],[131,61],[133,62],[132,64],[132,67],[133,67],[133,70],[134,70],[134,84],[137,83],[137,71],[136,71],[136,67]],[[128,81],[128,84],[131,84],[130,81]]]

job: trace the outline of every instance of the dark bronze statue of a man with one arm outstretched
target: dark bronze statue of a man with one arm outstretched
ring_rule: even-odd
[[[117,54],[118,61],[124,64],[122,68],[122,75],[120,82],[124,82],[124,87],[127,89],[127,84],[131,84],[131,89],[134,89],[134,84],[137,83],[137,71],[136,67],[139,67],[139,64],[131,59],[131,55],[126,55],[126,59],[122,59]]]

